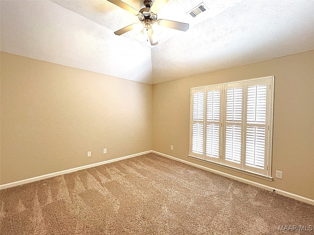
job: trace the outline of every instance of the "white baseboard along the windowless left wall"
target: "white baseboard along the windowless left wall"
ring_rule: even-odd
[[[128,159],[128,158],[137,157],[137,156],[140,156],[140,155],[143,155],[143,154],[148,154],[148,153],[152,153],[152,150],[141,152],[141,153],[136,153],[136,154],[120,157],[120,158],[111,159],[111,160],[107,160],[107,161],[100,162],[100,163],[83,165],[83,166],[75,167],[75,168],[68,169],[68,170],[62,170],[62,171],[50,173],[50,174],[47,174],[47,175],[40,175],[40,176],[37,176],[37,177],[33,177],[33,178],[25,179],[25,180],[20,180],[20,181],[16,181],[16,182],[4,184],[4,185],[0,185],[0,189],[11,188],[11,187],[14,187],[14,186],[24,185],[24,184],[28,184],[28,183],[31,183],[31,182],[44,180],[44,179],[47,179],[47,178],[52,178],[52,177],[55,177],[55,176],[58,176],[58,175],[68,174],[68,173],[71,173],[71,172],[74,172],[74,171],[84,170],[84,169],[87,169],[87,168],[91,168],[91,167],[95,167],[95,166],[99,166],[99,165],[103,165],[103,164],[113,163],[113,162],[121,161],[121,160]]]

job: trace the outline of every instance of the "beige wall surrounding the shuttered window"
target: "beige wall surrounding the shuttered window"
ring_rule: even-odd
[[[275,75],[273,182],[188,158],[190,88]],[[170,150],[174,145],[174,150]],[[314,199],[314,51],[153,86],[153,149]]]

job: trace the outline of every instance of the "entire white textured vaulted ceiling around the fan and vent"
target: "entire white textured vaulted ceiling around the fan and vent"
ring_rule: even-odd
[[[186,14],[204,2],[196,18]],[[143,0],[125,0],[136,9]],[[65,66],[157,84],[314,49],[314,0],[169,0],[157,46],[132,32],[138,21],[107,0],[0,1],[0,49]]]

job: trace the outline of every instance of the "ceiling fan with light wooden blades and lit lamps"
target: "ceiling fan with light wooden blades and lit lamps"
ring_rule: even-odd
[[[144,0],[143,4],[145,7],[140,9],[139,11],[134,9],[133,7],[131,7],[122,0],[107,0],[107,1],[110,1],[111,3],[138,16],[138,19],[140,21],[140,23],[130,24],[124,28],[115,31],[114,33],[116,35],[122,35],[133,29],[134,31],[138,32],[137,34],[141,38],[143,38],[143,36],[145,35],[148,35],[151,45],[155,46],[158,44],[158,41],[160,40],[156,36],[160,34],[162,26],[178,29],[181,31],[186,31],[189,27],[189,24],[186,23],[157,19],[157,13],[168,2],[168,0],[155,0],[154,2],[152,0]]]

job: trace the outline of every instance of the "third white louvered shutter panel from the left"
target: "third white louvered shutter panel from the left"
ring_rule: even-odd
[[[240,167],[242,153],[243,84],[226,86],[225,164]]]

